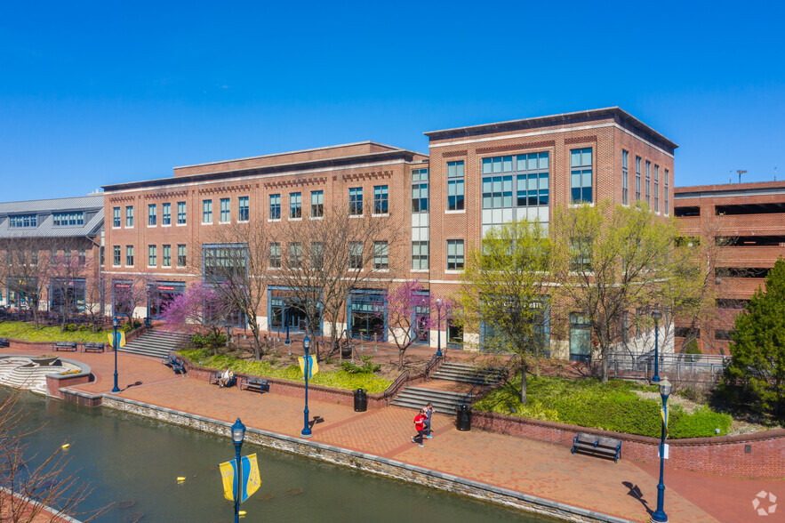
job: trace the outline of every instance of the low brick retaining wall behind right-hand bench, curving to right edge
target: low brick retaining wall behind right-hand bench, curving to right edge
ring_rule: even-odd
[[[577,432],[621,439],[621,456],[642,462],[659,461],[659,439],[566,423],[544,422],[505,414],[474,411],[472,426],[572,447]],[[785,430],[765,430],[717,438],[668,439],[668,466],[719,476],[755,479],[785,477]]]

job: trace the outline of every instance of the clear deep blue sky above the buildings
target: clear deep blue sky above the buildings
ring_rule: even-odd
[[[619,106],[676,185],[785,179],[780,3],[6,2],[0,201]]]

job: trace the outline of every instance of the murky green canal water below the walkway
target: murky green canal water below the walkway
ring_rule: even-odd
[[[0,387],[0,400],[9,393]],[[218,471],[218,463],[235,457],[229,439],[28,392],[21,395],[18,406],[28,414],[25,428],[44,426],[24,439],[30,462],[70,444],[68,471],[93,488],[81,505],[83,510],[116,502],[131,505],[113,507],[98,521],[233,520],[233,504],[223,498]],[[241,507],[247,512],[243,520],[249,523],[550,521],[297,455],[243,446],[243,455],[254,452],[259,457],[261,487]],[[178,483],[180,476],[186,480]]]

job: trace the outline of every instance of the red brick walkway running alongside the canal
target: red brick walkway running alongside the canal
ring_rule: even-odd
[[[6,350],[20,353],[20,350]],[[113,386],[114,354],[68,353],[84,361],[96,381],[75,387],[90,393]],[[303,402],[271,393],[219,389],[180,377],[157,359],[118,354],[118,396],[226,422],[240,417],[252,428],[298,437]],[[309,401],[312,441],[394,459],[403,463],[504,487],[559,503],[636,521],[656,508],[659,465],[606,461],[572,455],[569,447],[495,434],[461,432],[454,416],[435,414],[434,438],[413,445],[415,411],[388,407],[355,413],[351,407]],[[665,471],[665,511],[670,521],[754,521],[752,500],[761,490],[785,496],[785,481],[719,478],[690,471]],[[637,494],[639,492],[639,494]],[[785,513],[785,511],[783,511]],[[779,516],[780,514],[775,514]],[[767,519],[767,520],[776,520]]]

